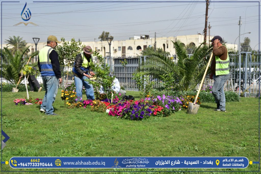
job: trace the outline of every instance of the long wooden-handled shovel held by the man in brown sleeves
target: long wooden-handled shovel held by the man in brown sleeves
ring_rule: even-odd
[[[210,62],[211,62],[212,56],[213,56],[213,52],[211,53],[211,56],[210,56],[210,58],[209,58],[209,62],[207,63],[207,67],[206,67],[205,73],[204,73],[204,75],[203,75],[203,78],[202,78],[202,80],[201,80],[201,83],[200,83],[200,85],[199,85],[198,93],[197,93],[197,96],[196,96],[196,98],[195,98],[195,101],[194,101],[194,103],[189,102],[189,104],[188,104],[188,110],[187,110],[187,113],[188,113],[188,114],[197,114],[197,113],[198,113],[199,105],[196,104],[196,101],[197,101],[197,98],[198,98],[200,89],[201,89],[201,87],[202,87],[202,84],[203,84],[203,82],[204,82],[205,76],[206,76],[206,74],[207,74],[207,69],[209,68],[209,64],[210,64]]]

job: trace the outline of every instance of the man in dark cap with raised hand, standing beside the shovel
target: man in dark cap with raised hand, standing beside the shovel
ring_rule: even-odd
[[[215,58],[211,62],[210,79],[214,79],[212,95],[215,98],[217,109],[215,111],[226,112],[226,98],[224,93],[225,82],[229,78],[229,56],[228,49],[222,44],[223,39],[215,36],[210,40],[213,45]]]

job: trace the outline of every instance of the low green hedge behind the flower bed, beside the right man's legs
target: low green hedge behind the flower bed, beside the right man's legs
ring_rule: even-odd
[[[151,91],[152,96],[158,96],[163,94],[170,95],[170,96],[177,96],[177,97],[182,97],[187,95],[195,96],[197,95],[197,91],[166,91],[166,90],[159,91],[156,89]],[[235,102],[240,100],[238,94],[232,91],[225,91],[225,97],[227,102]],[[201,103],[203,102],[215,103],[215,99],[210,92],[200,91],[199,98]]]

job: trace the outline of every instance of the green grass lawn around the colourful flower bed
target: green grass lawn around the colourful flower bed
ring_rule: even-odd
[[[111,117],[107,113],[91,112],[90,109],[67,109],[60,98],[60,91],[58,89],[53,105],[58,116],[44,115],[39,111],[40,105],[36,104],[16,106],[13,100],[25,98],[26,92],[3,92],[2,129],[10,139],[2,151],[2,161],[9,161],[14,156],[242,156],[248,160],[258,161],[258,98],[241,98],[240,102],[227,103],[226,113],[213,111],[216,107],[213,103],[202,103],[197,115],[188,115],[182,110],[169,117],[129,121]],[[133,95],[135,99],[139,98],[139,92],[127,94]],[[43,98],[44,91],[29,92],[29,95],[33,98]],[[2,167],[3,171],[50,170],[12,169],[5,164]],[[243,171],[258,171],[258,164],[249,165],[246,169],[60,169],[60,171],[154,171],[153,173],[242,171],[240,173],[244,173]]]

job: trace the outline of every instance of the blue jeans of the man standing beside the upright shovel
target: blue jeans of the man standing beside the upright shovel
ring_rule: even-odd
[[[224,93],[224,85],[228,80],[229,74],[225,75],[213,75],[214,84],[212,86],[212,95],[215,98],[216,104],[219,105],[219,109],[226,110],[226,98]]]

